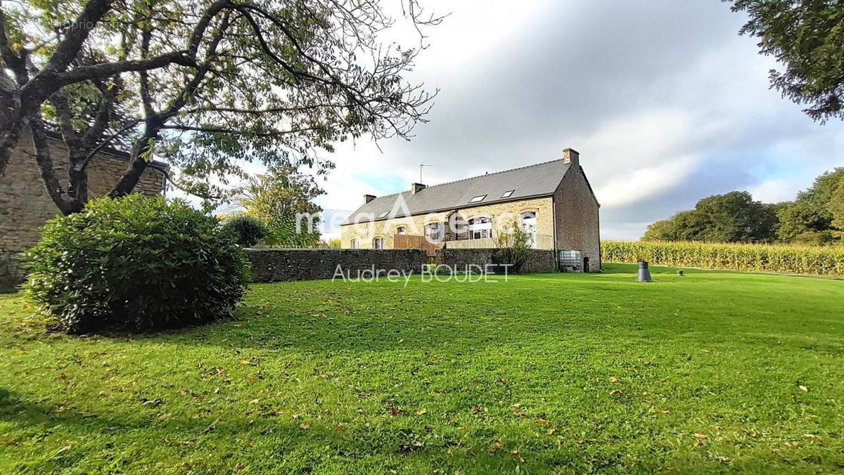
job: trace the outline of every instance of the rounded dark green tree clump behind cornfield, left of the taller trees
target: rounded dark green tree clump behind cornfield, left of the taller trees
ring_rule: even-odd
[[[754,201],[749,192],[714,195],[701,199],[693,210],[649,225],[642,240],[771,242],[776,239],[780,206]]]

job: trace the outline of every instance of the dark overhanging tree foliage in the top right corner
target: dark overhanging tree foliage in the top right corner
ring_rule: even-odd
[[[844,119],[844,3],[841,0],[724,0],[749,15],[741,35],[759,39],[762,54],[785,69],[771,87],[815,121]]]

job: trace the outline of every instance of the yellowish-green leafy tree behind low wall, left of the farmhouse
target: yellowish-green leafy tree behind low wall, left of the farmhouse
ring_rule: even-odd
[[[266,225],[264,245],[317,247],[322,208],[313,200],[324,193],[313,176],[284,167],[250,177],[237,199],[247,216]]]

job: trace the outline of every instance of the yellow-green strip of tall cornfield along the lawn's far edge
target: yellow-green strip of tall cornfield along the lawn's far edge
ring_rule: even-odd
[[[604,262],[647,261],[674,267],[844,275],[844,246],[604,240],[601,257]]]

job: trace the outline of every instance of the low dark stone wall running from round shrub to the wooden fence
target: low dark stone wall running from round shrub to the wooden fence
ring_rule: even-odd
[[[422,249],[247,249],[246,256],[252,282],[333,278],[338,266],[352,278],[373,269],[418,274],[427,262]]]

